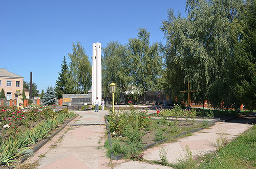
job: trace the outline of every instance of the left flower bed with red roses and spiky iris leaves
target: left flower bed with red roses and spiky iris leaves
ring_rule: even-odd
[[[66,118],[75,115],[67,109],[53,111],[50,107],[30,107],[26,111],[2,107],[0,110],[1,165],[13,165],[20,157],[31,154],[32,144],[46,138]]]

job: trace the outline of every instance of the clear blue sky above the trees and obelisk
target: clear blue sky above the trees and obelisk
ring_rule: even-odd
[[[163,42],[161,22],[167,9],[185,16],[185,0],[86,1],[1,0],[0,68],[33,82],[37,89],[55,87],[63,56],[72,53],[72,43],[81,42],[89,58],[92,43],[104,47],[117,40],[125,44],[138,28],[151,33],[151,43]],[[69,60],[68,60],[69,62]]]

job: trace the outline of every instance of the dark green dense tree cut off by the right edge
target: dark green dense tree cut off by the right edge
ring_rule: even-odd
[[[256,1],[246,1],[244,13],[233,22],[233,58],[229,60],[229,77],[233,91],[247,109],[256,109]]]

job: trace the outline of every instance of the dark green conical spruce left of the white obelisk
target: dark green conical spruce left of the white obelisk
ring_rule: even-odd
[[[56,97],[58,99],[62,98],[62,94],[69,93],[68,89],[68,76],[69,75],[69,67],[66,62],[66,57],[64,56],[62,64],[61,64],[61,70],[59,73],[58,80],[56,80],[56,86],[55,86],[55,92]]]

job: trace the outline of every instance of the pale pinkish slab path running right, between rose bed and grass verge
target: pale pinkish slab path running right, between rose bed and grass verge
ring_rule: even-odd
[[[143,157],[147,160],[160,160],[159,150],[165,149],[168,161],[175,163],[186,156],[187,148],[194,156],[210,153],[216,150],[218,142],[221,140],[231,141],[231,139],[245,132],[251,126],[248,124],[218,122],[215,126],[195,132],[192,136],[147,149],[144,151]]]

